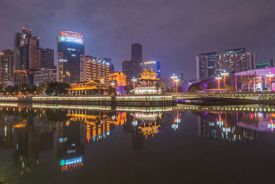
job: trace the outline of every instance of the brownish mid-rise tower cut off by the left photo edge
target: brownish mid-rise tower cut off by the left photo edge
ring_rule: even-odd
[[[0,52],[0,82],[13,80],[13,51],[4,49]]]

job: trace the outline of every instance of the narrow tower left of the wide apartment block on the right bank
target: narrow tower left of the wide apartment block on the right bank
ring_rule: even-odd
[[[195,57],[196,81],[208,79],[208,56],[200,55]]]

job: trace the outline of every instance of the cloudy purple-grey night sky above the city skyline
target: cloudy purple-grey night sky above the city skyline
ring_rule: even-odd
[[[275,1],[264,0],[1,0],[0,49],[13,49],[14,32],[28,22],[40,47],[55,50],[58,31],[84,34],[85,54],[112,58],[115,70],[131,58],[161,61],[162,76],[195,77],[199,53],[246,47],[257,62],[275,57]],[[56,60],[55,60],[56,64]]]

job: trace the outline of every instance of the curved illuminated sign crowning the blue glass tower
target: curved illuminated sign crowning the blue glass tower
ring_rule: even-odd
[[[58,36],[58,42],[71,42],[84,44],[83,34],[72,31],[60,31]]]

